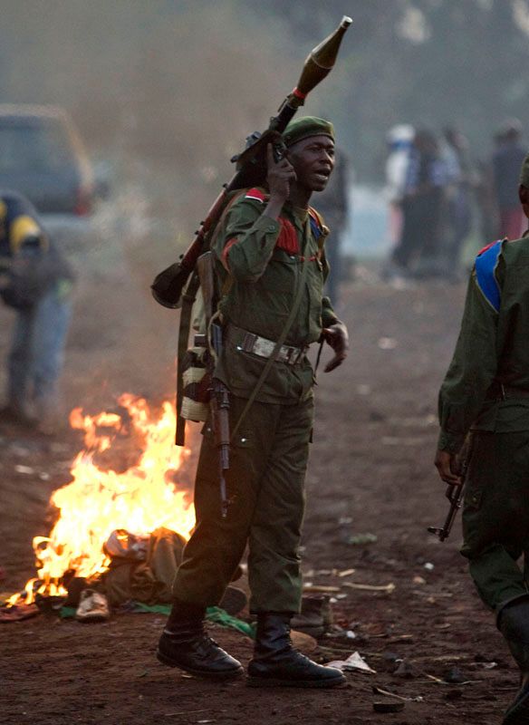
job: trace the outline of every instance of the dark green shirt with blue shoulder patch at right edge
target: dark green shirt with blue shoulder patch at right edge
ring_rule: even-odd
[[[506,239],[476,257],[456,350],[441,385],[438,448],[457,452],[468,430],[529,430],[529,237]],[[501,400],[489,389],[509,390]]]

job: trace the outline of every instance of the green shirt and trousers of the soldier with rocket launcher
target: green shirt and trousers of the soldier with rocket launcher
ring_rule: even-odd
[[[279,339],[303,264],[308,270],[302,301],[285,344],[303,348],[314,343],[322,327],[337,319],[322,296],[328,266],[321,225],[288,203],[275,221],[262,216],[265,205],[264,189],[244,192],[229,208],[213,244],[217,281],[225,292],[219,304],[225,340],[215,374],[232,393],[232,430],[267,362],[242,349],[240,331]],[[293,241],[299,245],[297,252],[282,244],[285,237],[290,247]],[[173,588],[178,599],[217,604],[248,544],[251,610],[299,611],[298,548],[313,428],[313,382],[313,368],[304,354],[295,364],[273,363],[232,443],[226,518],[220,513],[218,451],[206,424],[195,484],[197,528],[178,569]]]

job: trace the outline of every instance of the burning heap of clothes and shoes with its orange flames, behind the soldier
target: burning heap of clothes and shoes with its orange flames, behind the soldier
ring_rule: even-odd
[[[168,614],[172,583],[195,526],[189,494],[190,450],[174,445],[175,411],[169,402],[151,410],[144,399],[122,395],[119,406],[95,416],[75,409],[72,428],[84,449],[72,480],[52,494],[57,512],[49,536],[33,540],[37,576],[24,591],[0,599],[0,623],[37,614],[106,621],[112,612]],[[243,575],[239,567],[234,581]],[[244,588],[230,585],[207,617],[252,636]],[[328,597],[304,597],[293,622],[320,636],[331,623]]]

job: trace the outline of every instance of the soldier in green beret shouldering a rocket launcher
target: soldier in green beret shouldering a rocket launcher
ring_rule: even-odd
[[[292,121],[283,138],[284,159],[276,162],[268,147],[266,188],[246,189],[236,199],[212,246],[225,291],[219,304],[225,343],[215,376],[231,393],[230,427],[236,430],[226,471],[230,505],[223,518],[218,452],[207,423],[195,484],[197,527],[178,569],[158,658],[210,678],[242,672],[240,662],[206,636],[203,620],[248,544],[250,610],[257,616],[248,683],[332,687],[344,681],[341,672],[293,650],[289,633],[301,601],[298,549],[313,429],[314,372],[305,353],[323,336],[334,351],[329,372],[349,346],[345,325],[322,296],[327,229],[309,206],[313,191],[322,191],[331,175],[334,131],[328,121],[305,117]],[[287,328],[259,387],[274,343]]]

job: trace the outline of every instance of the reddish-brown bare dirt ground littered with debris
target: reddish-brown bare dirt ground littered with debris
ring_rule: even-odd
[[[122,391],[153,399],[170,391],[176,321],[138,293],[148,282],[139,274],[133,282],[93,280],[83,289],[65,371],[68,406],[97,411]],[[515,667],[458,554],[459,521],[444,544],[426,532],[447,511],[432,466],[436,398],[463,296],[464,285],[398,290],[364,272],[343,290],[351,356],[319,376],[303,569],[306,582],[346,594],[333,604],[334,620],[357,636],[323,638],[316,656],[340,659],[357,650],[376,674],[348,673],[347,685],[334,691],[212,684],[156,662],[159,615],[121,614],[92,625],[40,615],[0,624],[0,722],[501,722],[515,694]],[[0,324],[8,331],[5,311]],[[5,334],[2,354],[6,341]],[[49,530],[50,493],[69,480],[80,447],[72,431],[44,440],[0,430],[1,590],[14,591],[34,574],[31,539]],[[351,536],[366,533],[377,540],[351,544]],[[350,568],[348,576],[332,573]],[[348,583],[395,589],[380,593]],[[242,662],[251,657],[243,635],[216,627],[214,636]],[[409,663],[408,677],[394,673],[396,660]],[[496,664],[487,669],[488,662]],[[464,683],[444,681],[455,667]],[[406,701],[399,713],[378,713],[373,685],[421,700]]]

